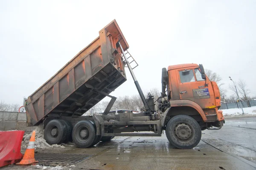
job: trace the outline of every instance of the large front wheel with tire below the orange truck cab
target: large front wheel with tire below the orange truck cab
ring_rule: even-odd
[[[179,149],[191,149],[201,140],[201,128],[195,119],[188,115],[177,115],[166,125],[169,142]]]

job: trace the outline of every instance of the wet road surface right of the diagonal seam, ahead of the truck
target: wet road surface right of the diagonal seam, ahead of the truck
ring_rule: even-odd
[[[256,117],[227,119],[221,130],[202,133],[203,141],[256,167]]]

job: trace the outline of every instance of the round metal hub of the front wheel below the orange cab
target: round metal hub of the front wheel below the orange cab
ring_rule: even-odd
[[[181,140],[187,140],[192,135],[192,130],[188,124],[180,123],[175,127],[175,135]]]

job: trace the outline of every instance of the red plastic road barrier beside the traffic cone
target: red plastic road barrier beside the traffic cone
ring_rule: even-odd
[[[20,153],[24,131],[0,131],[0,167],[14,164],[22,158]]]

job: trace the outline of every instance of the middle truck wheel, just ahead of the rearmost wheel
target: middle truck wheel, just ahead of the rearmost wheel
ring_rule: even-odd
[[[73,127],[72,138],[77,147],[87,148],[93,145],[96,131],[90,121],[79,121]]]

